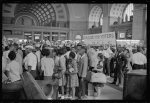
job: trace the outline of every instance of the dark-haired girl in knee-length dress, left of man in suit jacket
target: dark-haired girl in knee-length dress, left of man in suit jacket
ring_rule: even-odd
[[[68,72],[69,72],[69,79],[67,83],[67,87],[71,88],[72,91],[72,99],[75,99],[75,88],[79,86],[79,80],[77,76],[77,62],[75,60],[75,53],[70,52],[69,54],[69,62],[68,62]],[[71,94],[71,93],[70,93]]]

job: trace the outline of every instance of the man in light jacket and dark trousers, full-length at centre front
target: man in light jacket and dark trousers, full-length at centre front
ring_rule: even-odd
[[[81,58],[79,60],[79,68],[78,68],[78,76],[79,76],[79,97],[81,99],[86,99],[86,91],[87,91],[87,82],[86,75],[88,71],[88,57],[86,54],[86,48],[82,47],[79,51]]]

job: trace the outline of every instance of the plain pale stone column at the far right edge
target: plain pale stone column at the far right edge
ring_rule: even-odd
[[[135,4],[133,10],[132,39],[146,41],[144,4]]]

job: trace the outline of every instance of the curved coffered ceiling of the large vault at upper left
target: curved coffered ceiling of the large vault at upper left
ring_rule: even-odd
[[[51,4],[20,4],[16,6],[14,15],[24,12],[34,14],[40,25],[56,21],[56,13]]]

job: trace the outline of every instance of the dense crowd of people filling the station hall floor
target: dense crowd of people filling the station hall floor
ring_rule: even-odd
[[[52,46],[47,43],[12,43],[3,46],[2,83],[21,83],[20,75],[30,72],[35,80],[57,81],[61,99],[86,99],[88,83],[95,96],[101,95],[105,83],[87,79],[92,73],[114,78],[112,84],[121,86],[125,73],[146,69],[146,48],[77,45]],[[55,91],[53,91],[55,92]],[[48,95],[52,99],[52,93]]]

